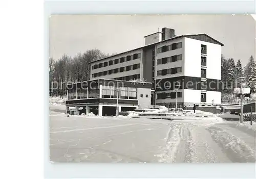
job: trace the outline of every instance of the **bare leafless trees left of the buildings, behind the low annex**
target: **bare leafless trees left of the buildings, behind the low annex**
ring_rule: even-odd
[[[115,54],[104,54],[99,49],[90,49],[85,53],[78,53],[74,57],[63,55],[60,59],[49,59],[49,87],[50,95],[62,96],[66,94],[68,82],[82,82],[90,80],[90,62]]]

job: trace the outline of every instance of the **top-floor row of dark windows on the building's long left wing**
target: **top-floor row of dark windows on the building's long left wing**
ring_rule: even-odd
[[[131,61],[131,60],[135,60],[135,59],[139,59],[139,58],[140,58],[140,53],[134,54],[131,56],[122,57],[120,59],[110,60],[110,61],[104,62],[104,63],[95,64],[92,66],[92,68],[93,69],[102,68],[102,67],[106,67],[106,66],[111,66],[113,64],[123,63],[123,62]]]

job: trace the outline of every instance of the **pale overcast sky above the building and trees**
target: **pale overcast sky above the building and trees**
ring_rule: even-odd
[[[106,54],[144,46],[158,28],[176,35],[206,33],[224,43],[226,58],[255,57],[255,21],[250,15],[54,15],[49,19],[50,57],[74,56],[98,48]]]

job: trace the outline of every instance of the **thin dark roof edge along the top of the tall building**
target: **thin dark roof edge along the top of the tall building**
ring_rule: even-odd
[[[175,36],[173,38],[169,38],[169,39],[166,39],[166,40],[163,40],[163,41],[160,41],[160,42],[156,42],[156,43],[152,43],[150,45],[145,45],[145,46],[141,46],[141,47],[138,47],[138,48],[135,48],[135,49],[131,49],[131,50],[128,50],[128,51],[125,51],[125,52],[122,52],[122,53],[119,53],[119,54],[116,54],[116,55],[113,55],[113,56],[110,56],[110,57],[105,57],[105,58],[102,58],[102,59],[98,59],[98,60],[95,60],[95,61],[92,61],[92,62],[89,62],[90,63],[94,63],[94,62],[98,62],[98,61],[101,61],[101,60],[105,60],[105,59],[109,59],[109,58],[113,58],[113,57],[116,57],[116,56],[119,56],[119,55],[123,55],[123,54],[126,54],[126,53],[130,53],[132,51],[135,51],[135,50],[138,50],[138,49],[141,49],[141,48],[145,48],[145,47],[148,47],[148,46],[151,46],[151,45],[156,45],[156,44],[159,44],[159,43],[162,43],[162,42],[167,42],[167,41],[171,41],[171,40],[174,40],[174,39],[178,39],[178,38],[183,38],[183,37],[190,37],[190,36],[199,36],[199,35],[205,35],[207,36],[208,38],[216,41],[217,43],[219,43],[221,46],[224,46],[223,43],[221,43],[220,41],[210,37],[209,35],[207,34],[189,34],[189,35],[180,35],[180,36]],[[196,40],[196,39],[195,39]]]

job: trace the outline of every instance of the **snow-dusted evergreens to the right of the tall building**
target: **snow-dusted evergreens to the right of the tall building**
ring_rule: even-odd
[[[240,77],[245,77],[246,86],[251,89],[251,93],[256,92],[256,64],[253,56],[248,59],[245,67],[242,67],[240,59],[235,64],[233,58],[225,59],[221,57],[221,80],[224,82],[222,93],[233,93],[233,87],[236,80]]]

